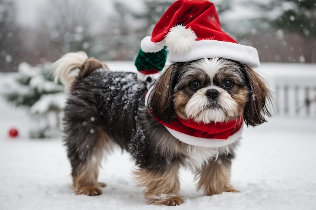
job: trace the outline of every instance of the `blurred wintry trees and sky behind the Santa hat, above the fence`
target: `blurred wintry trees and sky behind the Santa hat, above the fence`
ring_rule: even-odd
[[[134,60],[141,39],[173,1],[0,0],[0,71],[83,50]],[[261,62],[316,62],[315,0],[215,0],[224,31]]]

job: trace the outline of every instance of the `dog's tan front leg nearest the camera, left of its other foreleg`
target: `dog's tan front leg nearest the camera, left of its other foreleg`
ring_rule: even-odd
[[[135,172],[139,185],[144,190],[147,203],[154,205],[180,205],[183,200],[177,193],[180,190],[179,165],[165,169],[140,169]]]

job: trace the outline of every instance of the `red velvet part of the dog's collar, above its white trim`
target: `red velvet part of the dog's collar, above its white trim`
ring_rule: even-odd
[[[243,124],[243,118],[240,116],[228,122],[210,122],[208,124],[202,122],[197,123],[192,119],[183,120],[179,117],[174,119],[171,123],[159,122],[165,127],[190,136],[227,140],[229,136],[240,130]]]

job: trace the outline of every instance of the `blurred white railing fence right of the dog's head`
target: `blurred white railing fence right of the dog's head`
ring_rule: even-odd
[[[274,91],[274,115],[316,118],[315,64],[261,64]]]

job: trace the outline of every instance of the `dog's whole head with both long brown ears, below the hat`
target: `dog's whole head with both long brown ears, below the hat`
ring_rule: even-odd
[[[269,90],[262,78],[238,62],[199,59],[170,66],[155,84],[149,102],[154,117],[170,122],[176,116],[196,122],[225,122],[240,115],[256,126],[270,115]]]

